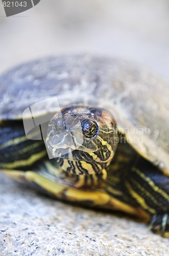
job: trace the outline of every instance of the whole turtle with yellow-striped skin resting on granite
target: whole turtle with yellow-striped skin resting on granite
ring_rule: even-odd
[[[0,169],[65,202],[122,211],[169,237],[169,83],[91,54],[0,77]]]

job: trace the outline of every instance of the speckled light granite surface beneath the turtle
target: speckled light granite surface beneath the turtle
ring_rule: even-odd
[[[68,205],[0,173],[0,255],[167,255],[168,239],[129,217]]]

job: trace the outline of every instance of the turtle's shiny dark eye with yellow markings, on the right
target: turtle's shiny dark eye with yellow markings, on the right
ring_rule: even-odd
[[[93,120],[83,120],[81,122],[82,133],[86,138],[92,138],[97,134],[98,125]]]

